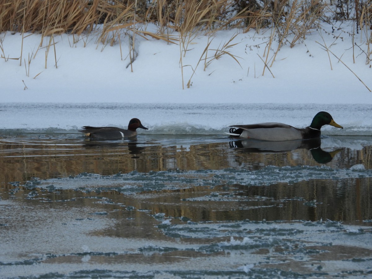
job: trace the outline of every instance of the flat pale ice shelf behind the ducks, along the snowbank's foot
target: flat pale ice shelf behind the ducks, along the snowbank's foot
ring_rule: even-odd
[[[299,128],[306,127],[321,110],[330,112],[334,120],[344,127],[338,129],[326,125],[322,128],[324,135],[371,135],[370,105],[349,104],[335,107],[308,103],[2,103],[0,129],[78,133],[77,130],[86,125],[126,128],[129,119],[137,117],[149,128],[143,134],[222,134],[229,125],[260,122],[281,122]]]

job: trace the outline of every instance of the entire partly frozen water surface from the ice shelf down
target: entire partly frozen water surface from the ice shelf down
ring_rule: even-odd
[[[0,137],[0,278],[372,278],[368,135]]]

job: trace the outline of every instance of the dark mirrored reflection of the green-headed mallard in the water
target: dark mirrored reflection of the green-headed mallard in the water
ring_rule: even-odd
[[[341,149],[327,152],[321,149],[321,139],[312,138],[310,140],[294,141],[256,141],[256,140],[237,140],[230,141],[230,148],[241,148],[247,153],[284,153],[296,149],[310,150],[312,157],[317,163],[326,164],[332,161],[334,155]]]

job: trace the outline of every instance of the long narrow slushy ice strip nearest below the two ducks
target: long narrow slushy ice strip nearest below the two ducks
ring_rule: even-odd
[[[296,183],[310,179],[350,179],[372,177],[372,170],[359,165],[348,169],[332,169],[328,166],[267,166],[260,170],[223,169],[197,171],[150,171],[140,173],[118,173],[104,176],[82,173],[54,179],[29,180],[24,186],[28,189],[115,189],[124,194],[142,191],[184,189],[194,186],[246,185],[267,186],[274,183]],[[13,185],[19,185],[14,182]]]

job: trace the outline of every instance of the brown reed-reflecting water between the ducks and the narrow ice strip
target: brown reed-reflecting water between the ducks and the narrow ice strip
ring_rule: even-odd
[[[126,145],[88,146],[81,148],[80,143],[74,147],[53,142],[40,145],[39,142],[0,144],[0,182],[26,181],[32,177],[42,179],[79,173],[99,173],[104,175],[128,173],[134,170],[148,173],[158,170],[203,170],[244,168],[248,170],[261,169],[263,166],[297,166],[314,165],[314,158],[308,150],[296,150],[286,153],[232,153],[225,143],[191,145],[189,150],[182,147],[148,146],[145,148]],[[242,150],[244,151],[244,150]],[[6,154],[7,157],[1,156]],[[134,155],[135,154],[135,155]],[[362,150],[343,150],[334,158],[330,166],[348,164],[344,161],[352,158],[350,166],[363,164],[371,169],[371,147]],[[134,158],[137,156],[138,158]],[[48,158],[48,160],[46,160]],[[9,167],[12,166],[12,167]]]

